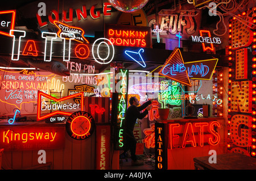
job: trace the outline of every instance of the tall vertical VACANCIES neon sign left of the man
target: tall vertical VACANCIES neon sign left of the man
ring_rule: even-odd
[[[128,80],[128,71],[120,69],[121,71],[121,89],[118,95],[118,115],[117,122],[120,123],[119,133],[118,133],[118,142],[119,148],[123,147],[123,120],[125,119],[126,107],[127,107],[127,80]]]

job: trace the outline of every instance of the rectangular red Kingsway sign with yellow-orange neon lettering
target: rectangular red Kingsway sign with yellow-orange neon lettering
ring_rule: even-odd
[[[1,147],[6,151],[64,149],[64,127],[0,128]]]

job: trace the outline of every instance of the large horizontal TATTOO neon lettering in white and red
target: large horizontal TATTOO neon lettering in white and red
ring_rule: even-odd
[[[61,39],[64,40],[63,44],[63,61],[69,61],[70,60],[70,54],[71,54],[71,40],[76,40],[75,36],[73,33],[69,33],[68,35],[70,36],[69,38],[65,37],[64,35],[67,35],[67,33],[60,33]],[[22,37],[26,37],[26,31],[20,31],[20,30],[10,30],[10,36],[13,37],[13,49],[11,53],[11,60],[18,61],[19,56],[20,56],[20,43]],[[18,38],[18,49],[15,50],[15,39]],[[45,44],[44,44],[44,61],[51,61],[52,60],[52,44],[53,40],[57,39],[57,33],[51,33],[51,32],[42,32],[42,38],[45,39]],[[65,53],[65,39],[69,39],[69,45],[68,45],[68,58],[66,59],[66,53]],[[104,41],[102,41],[104,40]],[[51,41],[51,44],[48,47],[48,41]],[[98,45],[96,43],[98,41],[101,41]],[[108,43],[105,41],[108,41],[108,43],[111,45],[109,46]],[[105,46],[102,46],[102,44],[105,44]],[[29,47],[28,47],[29,46]],[[100,48],[106,48],[107,50],[105,52],[106,56],[102,57],[100,55]],[[95,51],[94,49],[97,49]],[[36,50],[36,45],[33,40],[28,40],[25,49],[23,50],[23,55],[28,56],[38,56],[37,54],[38,50]],[[14,58],[14,55],[16,54],[16,57]],[[85,59],[89,56],[89,48],[86,44],[78,44],[76,45],[75,48],[75,54],[77,58],[80,59]],[[105,39],[105,38],[100,38],[94,41],[93,46],[92,46],[92,55],[93,58],[98,64],[109,64],[113,58],[114,58],[114,45],[111,43],[110,40]]]

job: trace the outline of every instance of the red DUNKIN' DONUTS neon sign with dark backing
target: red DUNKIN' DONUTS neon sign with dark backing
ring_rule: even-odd
[[[150,27],[105,24],[105,37],[113,45],[152,48]]]

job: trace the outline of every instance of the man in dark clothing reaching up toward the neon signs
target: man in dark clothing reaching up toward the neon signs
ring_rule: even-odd
[[[142,104],[142,106],[139,106],[138,99],[136,97],[131,97],[129,103],[131,106],[127,108],[125,124],[123,128],[123,154],[126,154],[126,152],[130,149],[132,165],[143,165],[143,162],[139,162],[137,156],[135,155],[137,141],[134,137],[133,129],[137,119],[143,119],[143,117],[148,114],[148,111],[151,110],[151,100],[148,100],[146,103]],[[144,110],[145,108],[146,110]],[[144,111],[141,113],[140,111],[142,110]]]

